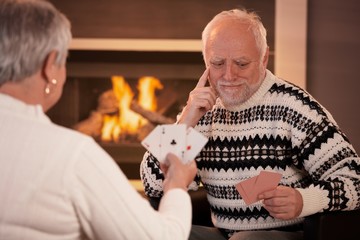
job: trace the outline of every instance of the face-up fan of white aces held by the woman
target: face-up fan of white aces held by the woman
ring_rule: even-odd
[[[155,127],[141,144],[159,162],[164,162],[166,155],[171,152],[187,163],[199,154],[207,141],[204,135],[192,127],[187,128],[185,124],[164,124]]]

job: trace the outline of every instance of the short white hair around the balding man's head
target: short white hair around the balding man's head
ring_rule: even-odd
[[[259,48],[260,56],[263,57],[265,55],[266,49],[268,47],[266,40],[266,29],[262,24],[259,15],[257,15],[255,12],[249,12],[245,9],[222,11],[206,25],[202,32],[203,54],[205,54],[207,39],[209,38],[212,29],[216,26],[217,23],[224,19],[234,19],[241,23],[249,24],[249,29],[254,34],[256,45]]]

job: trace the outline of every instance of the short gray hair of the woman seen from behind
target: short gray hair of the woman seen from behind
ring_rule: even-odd
[[[1,0],[0,85],[33,75],[52,51],[64,65],[71,38],[70,21],[50,2]]]

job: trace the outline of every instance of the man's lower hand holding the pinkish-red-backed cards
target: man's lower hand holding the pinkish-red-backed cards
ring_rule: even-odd
[[[303,208],[303,199],[299,191],[286,186],[259,195],[263,200],[264,208],[271,216],[278,219],[293,219],[300,215]]]

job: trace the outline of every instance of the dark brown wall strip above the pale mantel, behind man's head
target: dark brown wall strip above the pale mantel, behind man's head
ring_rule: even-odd
[[[275,0],[50,0],[73,24],[76,38],[200,39],[222,10],[246,7],[262,16],[272,49]]]

